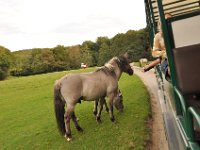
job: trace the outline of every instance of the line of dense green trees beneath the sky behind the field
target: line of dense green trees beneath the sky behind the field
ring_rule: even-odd
[[[151,59],[146,29],[129,30],[113,38],[98,37],[95,42],[84,41],[81,45],[54,48],[33,48],[11,52],[0,46],[0,80],[8,75],[27,76],[33,74],[102,66],[113,56],[128,52],[132,61],[140,58]]]

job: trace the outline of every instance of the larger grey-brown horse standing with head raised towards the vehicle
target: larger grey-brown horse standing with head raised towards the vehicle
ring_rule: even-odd
[[[119,108],[121,104],[118,97],[118,80],[122,72],[133,75],[127,53],[112,58],[103,67],[90,73],[68,74],[57,80],[54,85],[54,109],[58,128],[71,141],[70,119],[72,118],[78,131],[79,126],[74,109],[81,100],[90,101],[99,98],[109,98],[109,115],[115,121],[113,105]],[[65,103],[67,105],[65,111]]]

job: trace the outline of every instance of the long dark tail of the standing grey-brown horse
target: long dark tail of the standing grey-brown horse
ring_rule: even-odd
[[[65,122],[64,122],[64,113],[65,113],[65,102],[61,98],[60,93],[60,82],[56,81],[54,85],[54,110],[55,117],[58,125],[58,129],[62,135],[66,133]]]

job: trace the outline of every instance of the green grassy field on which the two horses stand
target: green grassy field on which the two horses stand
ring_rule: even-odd
[[[93,68],[70,72],[91,71]],[[71,125],[73,141],[60,136],[54,117],[53,85],[69,72],[55,72],[0,81],[0,149],[13,150],[102,150],[145,149],[150,130],[148,92],[136,76],[123,74],[119,86],[124,97],[124,112],[114,109],[112,123],[105,110],[102,123],[93,116],[93,102],[76,106],[83,133]]]

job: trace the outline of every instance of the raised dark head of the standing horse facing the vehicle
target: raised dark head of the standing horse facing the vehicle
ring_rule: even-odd
[[[122,72],[126,72],[129,75],[133,75],[133,69],[130,66],[130,59],[128,58],[128,54],[125,53],[124,55],[121,55],[118,57],[119,59],[119,67]]]

